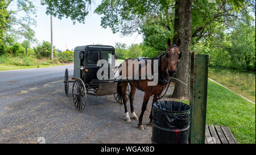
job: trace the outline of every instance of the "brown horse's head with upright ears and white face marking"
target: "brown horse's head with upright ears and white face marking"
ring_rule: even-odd
[[[180,39],[177,44],[172,45],[170,38],[167,41],[168,49],[166,51],[166,68],[168,76],[174,76],[181,58],[182,52],[179,49]]]

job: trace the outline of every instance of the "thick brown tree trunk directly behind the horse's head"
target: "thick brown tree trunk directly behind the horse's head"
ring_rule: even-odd
[[[189,51],[191,45],[191,7],[192,0],[179,1],[179,39],[181,41],[180,48],[182,50],[182,57],[180,59],[179,69],[176,73],[176,78],[184,83],[188,83],[189,76]],[[175,89],[172,97],[178,99],[188,98],[188,86],[179,81],[175,81]]]

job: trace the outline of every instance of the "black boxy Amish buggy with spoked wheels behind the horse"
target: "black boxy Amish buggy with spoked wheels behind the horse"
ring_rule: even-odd
[[[68,96],[69,82],[73,82],[73,104],[78,111],[84,110],[87,94],[94,96],[114,95],[117,102],[122,102],[121,97],[117,95],[118,80],[110,78],[110,74],[118,74],[119,64],[115,61],[115,58],[117,58],[115,49],[109,45],[86,45],[75,48],[74,76],[71,78],[72,80],[69,80],[68,69],[66,69],[64,86],[65,94]],[[103,66],[108,68],[109,77],[107,79],[97,78],[98,70],[103,68],[102,66],[97,66],[98,60],[106,60],[108,62],[107,66]],[[126,92],[128,96],[130,85],[127,86]]]

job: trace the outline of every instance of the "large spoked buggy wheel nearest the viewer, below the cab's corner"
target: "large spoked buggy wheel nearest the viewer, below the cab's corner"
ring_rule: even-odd
[[[78,111],[84,110],[86,103],[86,89],[84,81],[81,78],[76,78],[72,87],[73,103]]]

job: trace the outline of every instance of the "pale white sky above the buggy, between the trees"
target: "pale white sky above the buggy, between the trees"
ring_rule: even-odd
[[[88,45],[88,44],[103,44],[112,45],[121,42],[127,45],[142,43],[143,39],[141,35],[134,34],[129,37],[122,37],[120,33],[113,34],[110,28],[102,28],[101,16],[93,14],[94,9],[98,4],[101,3],[100,0],[94,1],[92,3],[92,12],[86,17],[85,24],[80,24],[73,22],[70,18],[63,18],[59,20],[53,18],[53,45],[56,48],[74,49],[76,46]],[[35,30],[36,39],[39,43],[43,40],[51,42],[51,18],[46,15],[46,6],[40,5],[40,1],[34,1],[37,11],[37,26],[33,28]],[[67,45],[67,48],[66,48]]]

